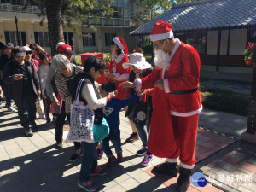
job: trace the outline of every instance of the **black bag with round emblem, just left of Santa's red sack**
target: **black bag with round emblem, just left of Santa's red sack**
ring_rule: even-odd
[[[134,109],[133,122],[146,125],[146,117],[148,111],[148,102],[137,102]]]

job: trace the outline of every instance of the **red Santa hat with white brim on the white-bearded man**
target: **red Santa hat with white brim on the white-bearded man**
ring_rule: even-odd
[[[158,20],[154,23],[152,32],[149,35],[151,41],[159,41],[172,37],[173,32],[171,24],[162,20]]]

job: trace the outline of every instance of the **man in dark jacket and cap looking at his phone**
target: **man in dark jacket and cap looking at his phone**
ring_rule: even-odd
[[[17,46],[13,50],[15,60],[9,61],[3,71],[3,82],[10,84],[9,96],[15,100],[18,108],[20,124],[25,128],[26,137],[33,135],[32,129],[37,129],[36,100],[40,96],[40,84],[32,62],[25,60],[26,50]],[[26,114],[27,106],[29,108]],[[32,125],[32,129],[29,125]]]

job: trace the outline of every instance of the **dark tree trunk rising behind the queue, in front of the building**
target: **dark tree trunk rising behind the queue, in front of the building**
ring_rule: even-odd
[[[51,55],[54,56],[57,53],[56,44],[64,42],[61,24],[61,0],[46,0],[45,9],[48,20],[49,46]]]

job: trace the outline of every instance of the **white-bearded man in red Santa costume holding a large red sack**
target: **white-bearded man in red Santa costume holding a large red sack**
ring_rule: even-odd
[[[154,166],[152,171],[176,177],[179,158],[176,189],[186,191],[195,166],[198,117],[202,110],[197,90],[201,61],[191,45],[173,37],[172,26],[167,22],[155,22],[150,40],[155,48],[154,70],[147,77],[122,86],[137,90],[154,87],[148,150],[165,157],[166,162]]]

